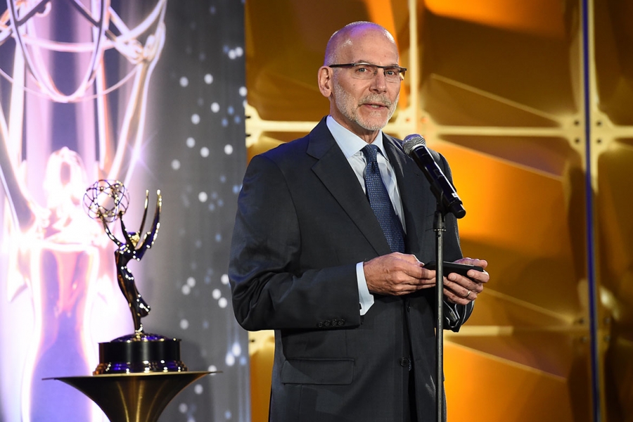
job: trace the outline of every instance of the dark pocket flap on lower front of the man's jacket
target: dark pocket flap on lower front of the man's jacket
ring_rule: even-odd
[[[348,385],[353,374],[354,359],[289,359],[281,367],[281,382]]]

